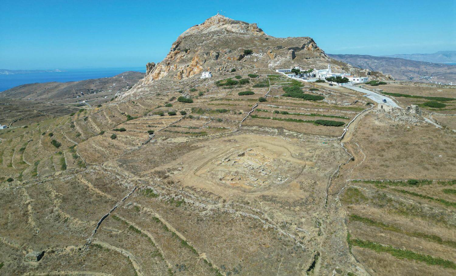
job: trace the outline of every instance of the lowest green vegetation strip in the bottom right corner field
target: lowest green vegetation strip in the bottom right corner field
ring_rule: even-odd
[[[410,250],[402,250],[394,248],[391,245],[381,245],[378,243],[374,243],[368,240],[359,240],[359,239],[350,239],[350,236],[347,235],[347,241],[350,246],[358,246],[361,248],[367,248],[370,250],[374,250],[375,252],[385,252],[389,253],[392,256],[399,258],[399,259],[408,259],[408,260],[417,260],[426,263],[430,266],[443,266],[445,268],[456,269],[456,264],[451,260],[444,260],[441,258],[435,258],[430,255],[424,255],[420,253],[416,253]]]

